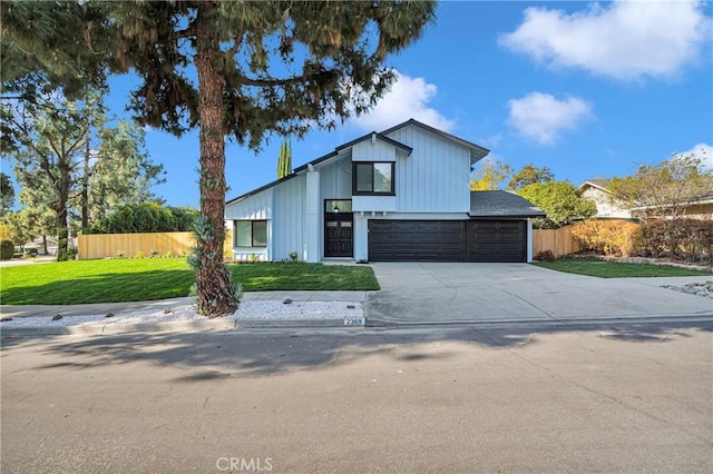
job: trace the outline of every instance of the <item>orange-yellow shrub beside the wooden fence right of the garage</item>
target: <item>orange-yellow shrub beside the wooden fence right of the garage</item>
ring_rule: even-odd
[[[635,253],[641,228],[626,220],[583,220],[572,226],[572,236],[585,250],[618,257]]]

